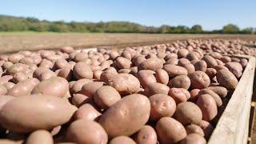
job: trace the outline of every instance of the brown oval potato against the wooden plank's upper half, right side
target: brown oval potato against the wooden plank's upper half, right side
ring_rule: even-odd
[[[230,72],[230,70],[218,70],[216,78],[219,86],[223,86],[227,90],[234,90],[238,85],[238,79]]]

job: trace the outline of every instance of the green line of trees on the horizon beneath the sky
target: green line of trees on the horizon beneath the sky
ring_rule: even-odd
[[[150,34],[255,34],[256,29],[240,29],[234,24],[222,30],[202,30],[202,26],[142,26],[134,22],[50,22],[38,18],[0,15],[0,31],[81,32],[81,33],[150,33]]]

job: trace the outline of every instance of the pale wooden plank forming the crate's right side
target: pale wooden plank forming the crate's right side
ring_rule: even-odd
[[[239,57],[241,58],[242,56]],[[250,114],[249,106],[252,95],[249,94],[249,92],[249,95],[247,95],[246,90],[252,91],[254,70],[255,58],[250,57],[248,65],[242,74],[242,78],[238,82],[238,86],[236,90],[234,90],[230,102],[226,106],[222,117],[219,119],[208,143],[242,144],[245,141],[244,138],[246,137],[246,134],[248,134],[249,126],[246,121],[249,121],[248,114]]]

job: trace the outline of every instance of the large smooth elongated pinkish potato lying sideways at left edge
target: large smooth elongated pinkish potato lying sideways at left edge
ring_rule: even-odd
[[[74,111],[74,106],[62,98],[48,95],[25,96],[14,98],[2,106],[0,124],[19,133],[49,130],[68,122]]]

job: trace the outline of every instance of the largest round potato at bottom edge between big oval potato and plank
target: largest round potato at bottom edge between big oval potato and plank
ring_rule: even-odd
[[[159,119],[155,130],[160,143],[177,143],[183,138],[186,138],[184,126],[174,118],[163,117]]]

